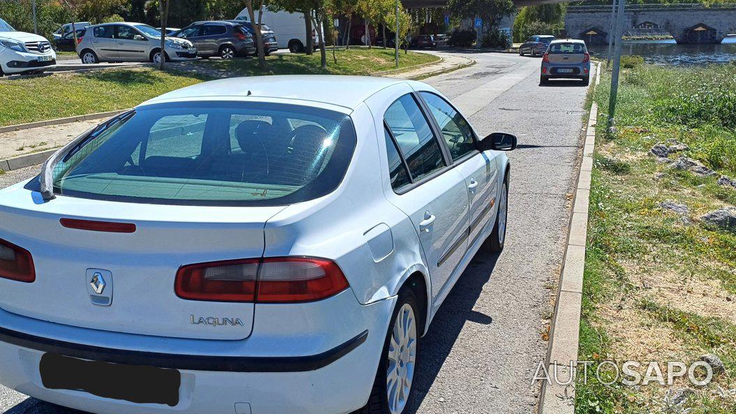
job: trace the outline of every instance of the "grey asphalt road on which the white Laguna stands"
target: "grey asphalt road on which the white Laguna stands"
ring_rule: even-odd
[[[587,88],[573,81],[540,87],[538,58],[469,55],[476,65],[424,82],[450,96],[481,135],[519,138],[510,154],[506,249],[475,257],[436,315],[421,342],[410,412],[531,414],[539,401],[531,378],[548,345],[542,332],[562,265]],[[0,175],[0,188],[37,171]],[[0,413],[79,412],[0,387]]]

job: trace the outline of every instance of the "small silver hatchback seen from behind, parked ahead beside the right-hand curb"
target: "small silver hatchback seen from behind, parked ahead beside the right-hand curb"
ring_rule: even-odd
[[[584,85],[590,83],[590,54],[582,40],[553,40],[542,56],[542,69],[539,85],[546,85],[549,79],[582,79]]]

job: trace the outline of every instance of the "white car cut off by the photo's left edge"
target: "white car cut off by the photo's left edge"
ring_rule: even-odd
[[[0,18],[0,76],[33,74],[56,67],[56,52],[49,40],[18,32]]]

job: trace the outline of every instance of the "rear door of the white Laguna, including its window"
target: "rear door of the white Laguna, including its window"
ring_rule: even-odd
[[[468,198],[464,177],[447,167],[446,155],[418,99],[408,93],[383,116],[389,163],[392,158],[394,164],[400,160],[409,181],[394,188],[388,198],[417,230],[436,298],[467,251]],[[392,157],[392,152],[397,156]]]

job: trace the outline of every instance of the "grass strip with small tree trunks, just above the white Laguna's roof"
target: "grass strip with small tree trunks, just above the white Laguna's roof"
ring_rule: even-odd
[[[263,73],[258,67],[258,60],[253,58],[236,60],[199,60],[197,65],[202,68],[224,70],[240,76],[262,74],[290,75],[290,74],[334,74],[334,75],[368,75],[374,72],[388,71],[394,68],[394,49],[354,48],[336,50],[337,63],[333,60],[332,50],[327,51],[326,71],[320,65],[319,51],[314,54],[277,54],[266,58],[269,70]],[[432,54],[409,51],[404,54],[400,51],[399,67],[408,68],[422,63],[439,61],[439,57]]]

